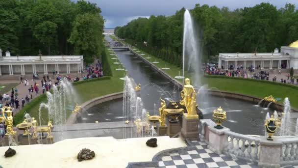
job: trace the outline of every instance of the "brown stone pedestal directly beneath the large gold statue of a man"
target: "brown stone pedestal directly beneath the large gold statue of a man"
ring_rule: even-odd
[[[181,137],[183,139],[198,140],[199,139],[199,116],[187,117],[184,113],[182,117]]]

